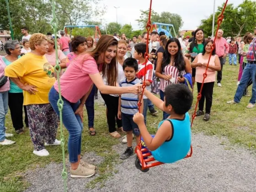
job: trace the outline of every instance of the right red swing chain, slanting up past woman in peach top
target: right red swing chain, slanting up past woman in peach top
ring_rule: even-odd
[[[205,80],[206,77],[207,77],[207,69],[208,69],[209,62],[210,62],[210,59],[211,59],[211,56],[212,56],[212,53],[213,53],[213,49],[215,48],[216,36],[217,36],[218,30],[219,30],[219,26],[220,26],[220,24],[222,23],[222,20],[223,20],[223,18],[224,18],[224,15],[223,15],[223,14],[224,14],[224,11],[225,11],[225,9],[226,9],[226,6],[227,6],[228,1],[229,1],[229,0],[226,0],[226,2],[225,2],[225,4],[224,4],[224,7],[223,7],[223,9],[222,9],[222,11],[221,11],[221,14],[218,16],[218,21],[217,21],[218,26],[217,26],[217,29],[216,29],[216,33],[215,33],[215,37],[214,37],[213,44],[212,44],[212,46],[211,46],[211,53],[210,53],[210,55],[209,55],[208,63],[207,63],[205,72],[204,72],[204,74],[203,74],[202,86],[201,86],[200,92],[199,92],[198,95],[197,95],[197,104],[196,104],[196,107],[195,107],[195,111],[194,111],[194,113],[193,113],[193,115],[192,115],[191,128],[192,128],[193,121],[194,121],[194,119],[195,119],[195,117],[196,117],[196,111],[197,111],[197,106],[198,106],[199,100],[200,100],[201,97],[202,97],[202,90],[203,90],[204,80]]]

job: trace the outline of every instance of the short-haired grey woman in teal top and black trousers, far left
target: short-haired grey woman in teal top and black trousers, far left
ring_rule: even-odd
[[[9,40],[4,45],[7,55],[3,57],[5,64],[8,66],[12,62],[19,59],[21,56],[20,43],[14,40]],[[14,82],[10,80],[10,91],[8,92],[8,106],[11,112],[12,125],[16,133],[23,133],[23,91]],[[28,127],[27,110],[24,106],[25,124]]]

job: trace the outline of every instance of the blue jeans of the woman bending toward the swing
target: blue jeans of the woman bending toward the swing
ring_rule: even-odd
[[[58,100],[59,93],[54,89],[54,87],[52,87],[49,92],[49,101],[54,111],[59,116],[59,109],[57,106]],[[77,101],[76,103],[71,103],[64,97],[62,97],[62,100],[64,101],[62,120],[65,128],[69,131],[69,162],[75,163],[78,161],[78,155],[80,155],[81,153],[81,139],[83,130],[83,123],[81,122],[80,116],[75,115],[75,111],[79,107],[80,101]]]

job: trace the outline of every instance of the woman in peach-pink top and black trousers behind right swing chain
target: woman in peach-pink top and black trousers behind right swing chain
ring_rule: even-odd
[[[208,59],[211,53],[211,46],[213,44],[212,40],[207,40],[205,42],[203,53],[199,53],[197,57],[194,59],[191,64],[192,68],[197,68],[195,80],[197,82],[197,91],[198,93],[201,90],[201,86],[203,83],[203,74],[205,73],[205,69],[208,63]],[[201,116],[204,114],[203,106],[205,101],[205,115],[203,120],[208,121],[210,119],[210,112],[213,103],[213,86],[215,82],[216,71],[221,69],[220,61],[218,55],[216,55],[215,48],[213,49],[211,59],[207,69],[207,77],[204,80],[202,97],[199,101],[199,110],[197,111],[197,116]]]

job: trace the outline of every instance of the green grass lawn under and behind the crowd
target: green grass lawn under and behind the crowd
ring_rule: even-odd
[[[247,109],[250,97],[243,97],[240,104],[228,105],[226,101],[232,100],[236,90],[236,82],[239,66],[224,65],[222,87],[215,84],[213,91],[213,106],[210,121],[204,122],[203,117],[197,117],[194,121],[192,132],[203,132],[207,135],[226,137],[231,144],[240,144],[245,149],[256,149],[256,107]],[[251,94],[251,86],[249,88]],[[197,88],[195,87],[194,98]],[[194,100],[194,103],[196,100]],[[193,109],[190,111],[192,114]],[[86,116],[86,112],[85,112]],[[104,161],[98,165],[100,176],[96,177],[87,187],[93,187],[108,176],[115,173],[113,165],[119,161],[119,155],[112,150],[112,146],[118,144],[118,139],[113,139],[108,134],[105,107],[95,104],[95,128],[97,135],[89,136],[87,133],[87,117],[84,118],[84,130],[82,135],[82,154],[95,152],[104,157]],[[147,127],[149,132],[155,133],[158,123],[162,119],[160,112],[158,117],[148,114]],[[27,130],[23,135],[17,135],[12,128],[10,113],[7,114],[5,126],[7,133],[13,133],[12,140],[16,144],[0,146],[0,192],[21,192],[29,186],[22,180],[27,169],[44,166],[50,162],[60,163],[62,151],[59,146],[47,147],[50,156],[38,157],[32,154],[33,146]],[[68,132],[64,129],[65,142],[67,143]],[[59,139],[59,131],[58,136]],[[67,145],[65,145],[67,154]],[[59,173],[61,174],[61,173]]]

